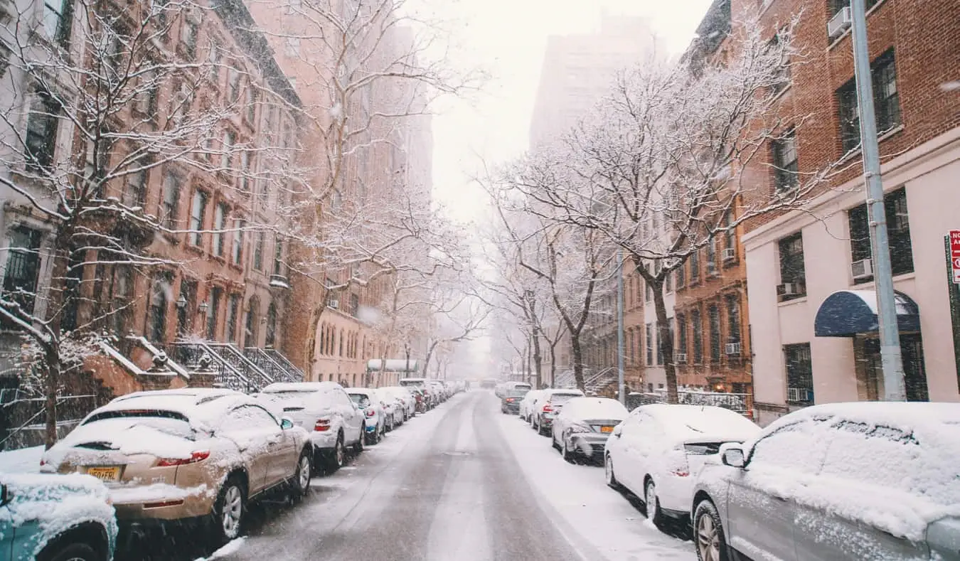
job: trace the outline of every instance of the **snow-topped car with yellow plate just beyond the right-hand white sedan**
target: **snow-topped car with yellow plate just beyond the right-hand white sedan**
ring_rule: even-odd
[[[564,460],[577,457],[602,461],[613,427],[630,414],[622,403],[610,398],[573,398],[565,402],[551,427],[553,447]]]

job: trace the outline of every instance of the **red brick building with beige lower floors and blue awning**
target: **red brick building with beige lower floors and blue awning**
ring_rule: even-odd
[[[757,4],[733,0],[732,12]],[[883,394],[852,38],[835,19],[848,4],[772,0],[759,7],[771,36],[803,9],[794,39],[800,63],[780,111],[806,118],[744,173],[773,191],[790,188],[797,174],[836,170],[804,211],[748,223],[737,250],[746,260],[761,423],[815,402]],[[947,86],[960,77],[960,4],[868,0],[867,7],[908,399],[955,402],[960,349],[950,299],[957,287],[948,281],[944,244],[948,231],[960,228],[960,92]]]

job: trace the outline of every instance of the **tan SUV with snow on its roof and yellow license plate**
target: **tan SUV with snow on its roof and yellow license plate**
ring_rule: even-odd
[[[41,471],[104,481],[125,524],[209,520],[236,538],[247,502],[310,485],[307,433],[226,389],[136,392],[87,415],[41,458]]]

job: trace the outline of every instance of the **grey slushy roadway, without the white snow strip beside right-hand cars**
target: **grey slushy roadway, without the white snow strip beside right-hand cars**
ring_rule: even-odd
[[[504,441],[492,393],[455,396],[315,477],[300,504],[255,505],[227,561],[600,559],[531,489]],[[518,424],[522,428],[522,425]],[[545,446],[545,445],[544,445]],[[223,554],[227,553],[227,554]],[[208,556],[189,535],[152,536],[121,561]]]

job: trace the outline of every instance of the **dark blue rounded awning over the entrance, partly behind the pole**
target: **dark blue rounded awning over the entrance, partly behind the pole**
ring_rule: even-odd
[[[896,292],[897,324],[900,331],[920,330],[920,308],[909,296]],[[852,337],[879,329],[876,320],[876,292],[838,290],[817,310],[813,332],[818,337]]]

